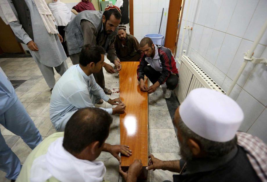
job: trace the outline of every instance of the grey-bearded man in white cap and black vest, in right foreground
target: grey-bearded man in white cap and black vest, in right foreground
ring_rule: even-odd
[[[176,109],[180,156],[161,161],[149,155],[148,170],[179,172],[173,181],[267,181],[267,146],[237,132],[244,115],[239,105],[211,89],[192,90]]]

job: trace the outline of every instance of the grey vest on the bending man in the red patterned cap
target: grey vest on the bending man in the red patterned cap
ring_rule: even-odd
[[[83,19],[90,21],[97,31],[96,37],[99,35],[102,27],[102,11],[85,10],[77,14],[66,26],[65,38],[68,45],[68,53],[70,55],[80,53],[83,46],[83,30],[81,28],[81,21]],[[105,44],[105,51],[107,51],[111,39],[113,39],[118,33],[118,28],[107,37]]]

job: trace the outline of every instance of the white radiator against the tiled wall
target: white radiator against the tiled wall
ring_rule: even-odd
[[[183,55],[179,71],[179,84],[174,90],[180,103],[187,94],[196,88],[210,88],[225,94],[225,91],[214,82],[190,57]]]

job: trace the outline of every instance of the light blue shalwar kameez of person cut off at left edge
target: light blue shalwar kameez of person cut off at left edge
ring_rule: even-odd
[[[33,120],[17,98],[15,90],[0,67],[0,124],[34,149],[42,136]],[[0,131],[0,170],[6,172],[7,179],[17,179],[21,170],[19,158],[8,147]]]

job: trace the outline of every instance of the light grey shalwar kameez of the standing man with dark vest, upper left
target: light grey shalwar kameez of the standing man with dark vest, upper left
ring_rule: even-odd
[[[37,63],[48,86],[50,88],[53,88],[55,85],[55,73],[53,67],[55,67],[57,73],[63,75],[63,73],[68,69],[67,63],[65,61],[67,57],[57,34],[49,34],[47,32],[34,1],[25,0],[25,2],[28,6],[27,10],[30,11],[31,26],[33,29],[34,37],[33,41],[39,49],[39,51],[30,51],[30,54],[33,56],[35,62]],[[12,0],[9,0],[9,3],[18,19],[18,21],[10,22],[9,25],[15,35],[20,40],[22,40],[24,44],[27,44],[32,39],[22,28],[16,9],[12,4]]]

